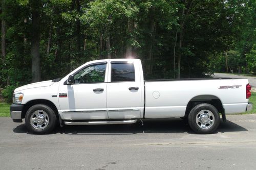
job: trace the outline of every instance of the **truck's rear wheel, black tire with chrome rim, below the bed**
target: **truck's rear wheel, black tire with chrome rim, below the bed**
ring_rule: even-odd
[[[220,115],[216,107],[202,103],[190,110],[188,124],[196,133],[210,134],[219,127]]]

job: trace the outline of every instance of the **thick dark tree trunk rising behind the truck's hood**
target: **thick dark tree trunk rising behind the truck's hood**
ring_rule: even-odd
[[[40,2],[32,1],[32,36],[31,36],[31,55],[32,55],[32,82],[38,82],[41,79],[39,41],[40,41]]]

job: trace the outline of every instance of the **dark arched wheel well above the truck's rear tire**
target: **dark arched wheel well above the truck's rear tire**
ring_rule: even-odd
[[[196,105],[201,103],[208,103],[216,107],[216,109],[219,111],[219,113],[222,114],[222,117],[225,117],[225,111],[223,109],[221,100],[217,98],[217,96],[214,95],[198,95],[191,99],[186,107],[185,117],[188,116],[190,110],[194,108]],[[224,115],[224,116],[223,116]]]

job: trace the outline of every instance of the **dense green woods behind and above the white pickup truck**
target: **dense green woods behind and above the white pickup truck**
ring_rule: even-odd
[[[256,72],[253,0],[2,0],[0,86],[139,58],[146,79]],[[0,87],[0,88],[1,88]]]

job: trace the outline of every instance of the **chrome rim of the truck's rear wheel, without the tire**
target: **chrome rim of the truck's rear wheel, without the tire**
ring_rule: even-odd
[[[199,128],[209,129],[212,127],[212,125],[214,125],[214,122],[214,113],[212,113],[210,110],[201,110],[197,113],[196,123]]]

